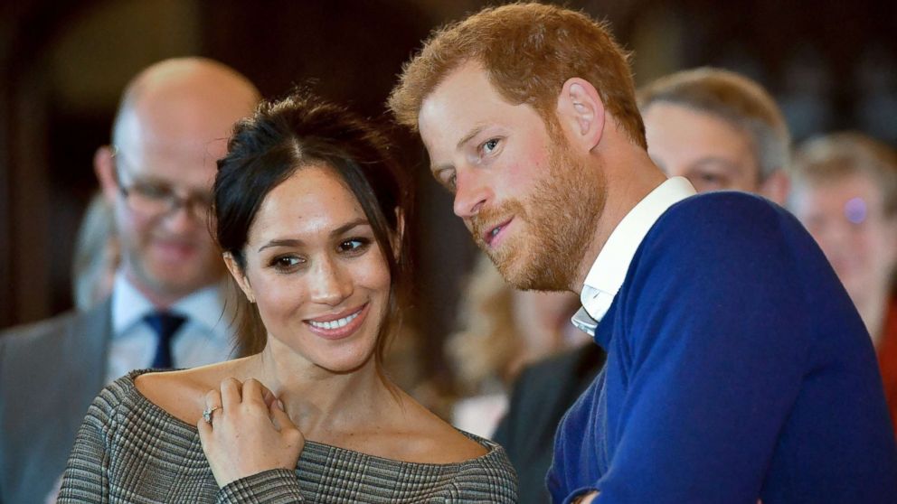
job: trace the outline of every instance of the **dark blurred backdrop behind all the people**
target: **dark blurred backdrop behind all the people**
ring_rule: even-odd
[[[395,75],[473,0],[5,0],[0,5],[0,329],[71,307],[71,254],[97,182],[121,89],[172,56],[241,71],[266,97],[294,84],[384,117]],[[493,3],[494,4],[494,3]],[[897,2],[595,0],[565,2],[609,20],[634,51],[637,83],[715,65],[779,98],[797,140],[855,128],[897,145]],[[474,257],[416,139],[399,138],[419,182],[415,321],[432,378],[458,285]]]

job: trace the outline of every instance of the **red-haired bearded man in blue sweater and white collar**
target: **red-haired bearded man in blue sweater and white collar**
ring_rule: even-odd
[[[505,279],[580,294],[607,350],[558,429],[554,500],[892,501],[881,378],[836,275],[769,201],[667,180],[605,25],[486,9],[433,34],[390,107]]]

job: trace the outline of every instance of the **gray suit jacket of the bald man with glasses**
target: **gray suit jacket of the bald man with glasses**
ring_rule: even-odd
[[[0,334],[0,503],[43,502],[106,380],[110,303]]]

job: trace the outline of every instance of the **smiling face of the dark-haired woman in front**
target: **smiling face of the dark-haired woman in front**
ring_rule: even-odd
[[[244,270],[227,264],[259,308],[270,351],[295,355],[299,369],[345,372],[373,362],[389,266],[361,204],[332,169],[299,168],[271,190],[243,256]]]

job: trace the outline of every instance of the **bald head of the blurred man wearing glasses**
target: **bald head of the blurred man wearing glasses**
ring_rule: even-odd
[[[122,96],[115,149],[99,150],[96,170],[116,210],[124,273],[157,305],[220,278],[205,204],[234,123],[259,99],[248,79],[200,58],[156,63]]]

